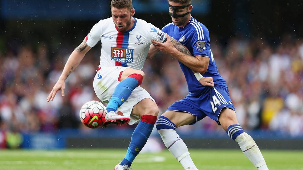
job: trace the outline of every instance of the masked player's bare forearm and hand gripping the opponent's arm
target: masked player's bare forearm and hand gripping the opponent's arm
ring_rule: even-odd
[[[157,44],[155,47],[158,48],[162,53],[170,54],[175,57],[181,63],[186,65],[194,72],[204,74],[208,69],[209,57],[192,56],[189,50],[182,45],[179,41],[171,38],[166,34],[167,41],[160,43],[158,41],[151,41]]]

